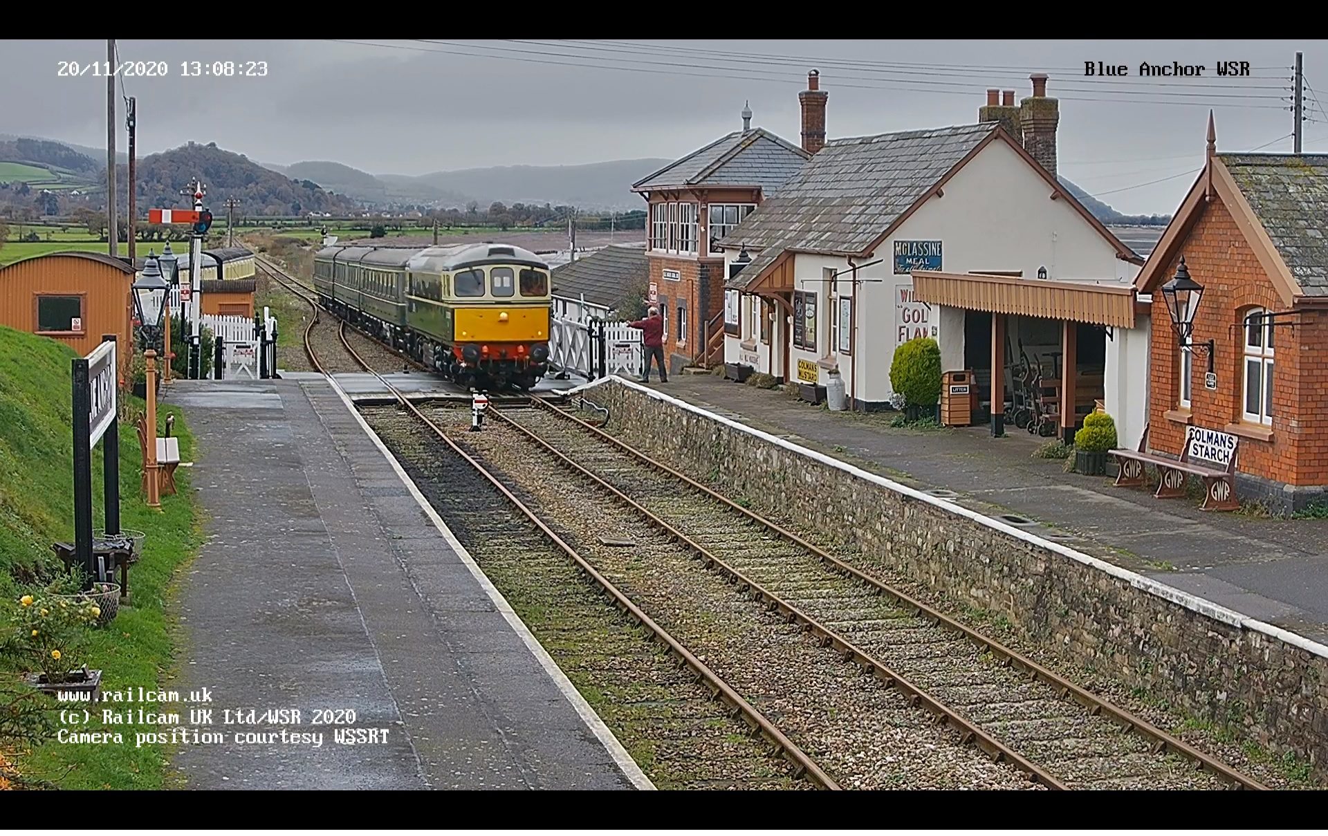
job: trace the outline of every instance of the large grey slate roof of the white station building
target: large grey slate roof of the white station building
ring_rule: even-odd
[[[786,251],[857,255],[955,167],[996,122],[834,139],[725,236],[760,248],[729,287],[746,287]]]

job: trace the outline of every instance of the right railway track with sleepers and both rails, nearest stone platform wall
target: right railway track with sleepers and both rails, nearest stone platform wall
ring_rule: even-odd
[[[558,407],[534,399],[495,415],[563,482],[612,495],[708,569],[1046,787],[1264,788]]]

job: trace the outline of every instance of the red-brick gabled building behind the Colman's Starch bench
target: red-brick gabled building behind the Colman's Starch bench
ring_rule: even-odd
[[[1161,288],[1185,259],[1190,349]],[[1135,281],[1151,295],[1146,447],[1179,456],[1194,429],[1235,437],[1236,494],[1278,511],[1328,491],[1328,155],[1219,154]],[[1195,299],[1197,297],[1197,299]],[[1177,305],[1179,308],[1179,304]],[[1122,439],[1123,441],[1123,439]]]

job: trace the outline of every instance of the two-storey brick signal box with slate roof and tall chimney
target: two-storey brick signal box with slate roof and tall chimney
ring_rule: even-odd
[[[664,353],[673,372],[717,358],[722,346],[724,256],[714,245],[774,194],[825,142],[825,92],[811,76],[803,110],[818,110],[819,134],[803,130],[802,147],[752,127],[742,111],[742,130],[673,161],[632,186],[647,202],[645,256],[649,301],[667,322]],[[807,123],[806,115],[803,123]],[[713,322],[713,324],[712,324]],[[714,334],[709,345],[703,337]]]

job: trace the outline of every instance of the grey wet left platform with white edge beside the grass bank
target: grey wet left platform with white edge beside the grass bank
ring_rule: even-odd
[[[207,535],[175,687],[211,690],[211,731],[323,735],[185,746],[187,787],[649,788],[327,378],[175,381],[163,399],[197,438]],[[259,725],[222,725],[251,709]],[[263,722],[283,709],[300,722]]]

